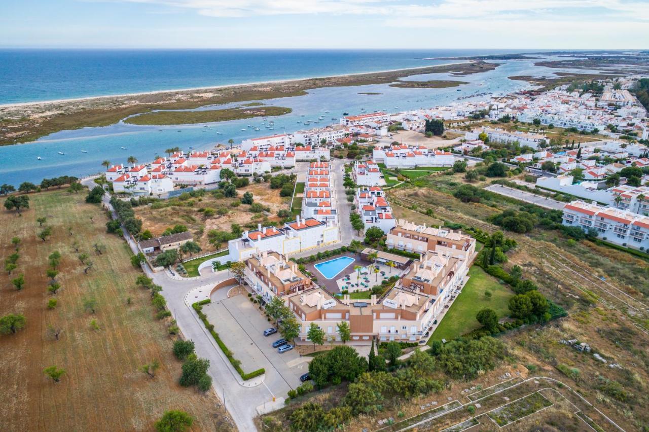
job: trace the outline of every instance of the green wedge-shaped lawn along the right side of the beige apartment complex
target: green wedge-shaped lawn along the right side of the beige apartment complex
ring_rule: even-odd
[[[435,329],[428,341],[429,344],[442,339],[450,341],[479,328],[480,323],[476,321],[476,314],[483,307],[489,307],[496,311],[498,318],[509,315],[507,305],[509,298],[513,296],[509,288],[500,285],[495,278],[489,276],[477,265],[469,269],[469,276],[471,276],[469,282]],[[485,291],[491,291],[489,300],[484,296]]]

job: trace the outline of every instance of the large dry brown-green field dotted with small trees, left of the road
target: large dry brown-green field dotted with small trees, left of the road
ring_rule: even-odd
[[[165,410],[181,409],[195,418],[193,430],[234,430],[213,394],[177,384],[181,364],[165,323],[154,318],[150,294],[134,285],[140,272],[130,265],[130,251],[121,238],[104,234],[106,216],[84,197],[63,190],[32,194],[30,209],[20,217],[0,207],[0,256],[14,252],[12,237],[21,239],[18,269],[0,276],[0,315],[27,318],[24,330],[0,335],[0,429],[153,430]],[[38,217],[46,217],[43,226],[52,230],[44,242],[37,237]],[[94,261],[88,274],[74,242]],[[93,251],[95,243],[103,245],[101,256]],[[62,288],[52,295],[45,271],[55,250],[62,255],[56,276]],[[16,291],[10,280],[20,273],[25,287]],[[50,298],[58,300],[52,310],[46,307]],[[97,302],[94,314],[84,308],[89,298]],[[93,319],[99,330],[91,326]],[[49,326],[61,330],[58,341]],[[138,371],[155,359],[155,378]],[[60,383],[43,374],[51,365],[66,370]]]

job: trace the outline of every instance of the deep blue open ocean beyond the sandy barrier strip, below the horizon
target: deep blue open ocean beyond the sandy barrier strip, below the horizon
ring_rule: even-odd
[[[0,50],[0,104],[434,66],[430,58],[519,51]]]

